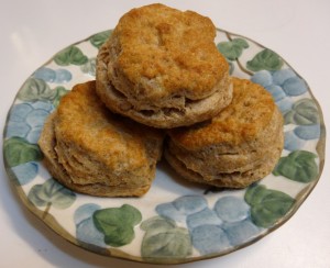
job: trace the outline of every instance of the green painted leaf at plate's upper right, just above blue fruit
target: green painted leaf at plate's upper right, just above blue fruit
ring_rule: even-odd
[[[283,59],[273,51],[265,48],[257,53],[252,60],[246,63],[248,69],[258,70],[279,70],[283,66]]]

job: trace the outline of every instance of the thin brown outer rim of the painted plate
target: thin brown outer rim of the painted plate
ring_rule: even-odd
[[[73,46],[73,45],[77,45],[77,44],[87,42],[96,34],[103,33],[103,32],[107,32],[107,31],[112,31],[112,30],[113,29],[108,29],[108,30],[103,30],[103,31],[97,32],[95,34],[91,34],[86,38],[82,38],[78,42],[75,42],[75,43],[59,49],[57,53],[64,51],[67,47]],[[220,29],[220,27],[216,27],[216,30],[217,30],[217,32],[222,32],[224,34],[234,35],[237,37],[242,37],[246,41],[250,41],[251,43],[256,44],[261,48],[268,48],[267,46],[264,46],[261,43],[258,43],[258,42],[256,42],[256,41],[254,41],[250,37],[246,37],[244,35],[237,34],[237,33],[233,33],[233,32]],[[52,60],[54,59],[54,57],[57,53],[55,53],[48,60],[46,60],[44,64],[42,64],[38,68],[52,63]],[[88,244],[88,243],[85,243],[85,242],[79,242],[75,236],[69,234],[56,221],[56,219],[51,213],[48,213],[46,219],[44,219],[43,217],[44,211],[40,210],[37,206],[32,204],[31,201],[29,201],[28,196],[24,193],[22,187],[16,182],[18,177],[13,174],[13,171],[11,170],[12,168],[9,166],[9,164],[7,161],[7,158],[4,156],[4,143],[2,143],[2,156],[3,156],[4,170],[6,170],[7,176],[9,177],[10,185],[12,187],[14,187],[14,192],[15,192],[15,194],[19,196],[22,204],[24,204],[24,208],[26,208],[28,211],[30,211],[30,213],[32,213],[34,216],[36,216],[38,219],[38,221],[43,222],[50,231],[52,231],[55,234],[59,235],[62,238],[64,238],[65,241],[72,243],[73,245],[78,246],[79,248],[82,248],[84,250],[91,252],[91,253],[95,253],[95,254],[100,255],[100,256],[113,257],[113,258],[118,258],[118,259],[124,259],[124,260],[129,260],[129,261],[142,263],[142,264],[177,265],[177,264],[187,264],[187,263],[200,261],[200,260],[205,260],[205,259],[218,258],[218,257],[228,255],[230,253],[237,252],[239,249],[242,249],[244,247],[248,247],[248,246],[256,243],[257,241],[264,238],[265,236],[270,235],[271,233],[276,231],[278,227],[284,225],[288,220],[290,220],[293,217],[293,215],[298,211],[298,209],[302,205],[302,203],[307,200],[309,194],[314,191],[315,187],[318,185],[318,182],[319,182],[319,180],[322,176],[322,171],[323,171],[323,167],[324,167],[327,130],[326,130],[324,118],[323,118],[323,112],[321,110],[321,107],[320,107],[318,100],[315,98],[308,82],[296,71],[295,68],[293,68],[292,65],[289,65],[286,62],[285,58],[283,58],[280,55],[279,55],[279,57],[299,78],[301,78],[306,82],[308,93],[310,94],[310,99],[315,102],[315,104],[317,107],[317,110],[318,110],[318,115],[319,115],[319,119],[320,119],[320,123],[319,123],[320,124],[320,137],[319,137],[319,139],[316,144],[316,152],[317,152],[318,157],[319,157],[318,175],[311,182],[309,182],[308,186],[306,186],[301,191],[299,191],[299,193],[297,194],[297,197],[299,197],[299,198],[296,198],[295,203],[293,204],[293,206],[288,210],[288,212],[283,217],[280,217],[273,226],[265,230],[265,232],[262,232],[262,233],[257,234],[256,237],[254,237],[254,238],[252,238],[252,239],[250,239],[245,243],[242,243],[242,244],[235,245],[233,247],[230,247],[229,249],[223,250],[221,253],[213,253],[213,254],[209,254],[209,255],[200,255],[200,256],[197,256],[197,257],[196,256],[195,257],[191,257],[191,256],[189,257],[188,256],[188,257],[185,257],[185,258],[164,258],[163,257],[163,258],[156,259],[155,257],[142,257],[142,256],[130,255],[130,254],[128,254],[128,253],[125,253],[121,249],[114,248],[114,247],[102,248],[100,246],[91,245],[91,244]],[[22,86],[19,88],[18,92],[15,93],[12,103],[10,104],[10,108],[9,108],[7,116],[6,116],[4,127],[3,127],[3,133],[2,133],[2,141],[3,142],[7,138],[6,137],[6,132],[7,132],[7,129],[8,129],[8,122],[9,122],[11,108],[14,105],[14,102],[18,99],[18,94],[21,91],[21,89],[23,88],[24,83],[28,81],[29,78],[32,77],[32,75],[34,72],[35,72],[35,70],[23,81]],[[155,260],[157,260],[157,261],[155,261]]]

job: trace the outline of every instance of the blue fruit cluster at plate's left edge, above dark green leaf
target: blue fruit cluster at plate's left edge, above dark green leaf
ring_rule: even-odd
[[[23,137],[36,144],[44,121],[53,110],[54,105],[44,101],[14,104],[9,114],[6,136]]]

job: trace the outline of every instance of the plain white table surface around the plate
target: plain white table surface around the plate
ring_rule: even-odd
[[[163,1],[165,2],[165,1]],[[24,80],[56,52],[116,26],[130,9],[152,1],[0,0],[1,127]],[[282,55],[310,86],[330,125],[330,1],[166,1],[209,16]],[[2,143],[2,139],[1,139]],[[2,147],[2,146],[1,146]],[[326,156],[329,146],[326,149]],[[1,154],[2,158],[2,154]],[[210,260],[176,267],[330,267],[330,170],[296,214],[257,243]],[[10,186],[1,159],[0,267],[152,267],[86,252],[33,216]],[[158,266],[157,266],[158,267]]]

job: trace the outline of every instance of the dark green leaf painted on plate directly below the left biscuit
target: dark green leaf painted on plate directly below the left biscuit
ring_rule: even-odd
[[[121,208],[98,210],[92,220],[96,228],[105,235],[105,243],[120,247],[134,239],[134,226],[142,221],[142,215],[134,206],[123,204]]]

